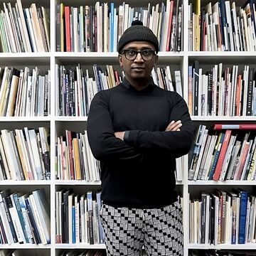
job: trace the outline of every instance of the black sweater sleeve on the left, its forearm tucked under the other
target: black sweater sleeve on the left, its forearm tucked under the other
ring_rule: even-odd
[[[141,154],[114,136],[108,99],[104,91],[93,97],[87,119],[87,134],[92,154],[98,160],[134,159]]]

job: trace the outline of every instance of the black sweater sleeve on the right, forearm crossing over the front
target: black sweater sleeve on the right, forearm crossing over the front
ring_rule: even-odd
[[[130,146],[136,149],[150,151],[164,151],[175,157],[187,154],[191,149],[194,136],[194,126],[188,113],[185,100],[177,93],[173,94],[174,100],[171,104],[170,122],[181,120],[181,131],[141,131],[130,130],[129,137],[125,140]]]

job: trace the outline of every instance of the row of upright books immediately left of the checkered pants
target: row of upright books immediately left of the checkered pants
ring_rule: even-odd
[[[71,189],[57,191],[56,196],[56,242],[57,243],[103,243],[104,233],[100,223],[102,202],[100,192],[95,194],[73,193]],[[95,198],[92,198],[95,196]]]

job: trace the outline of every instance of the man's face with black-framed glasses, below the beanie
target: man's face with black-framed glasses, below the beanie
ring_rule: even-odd
[[[127,43],[123,50],[155,50],[151,43],[145,41],[134,41]],[[140,53],[134,60],[127,60],[124,53],[119,55],[119,64],[124,69],[127,80],[148,80],[151,76],[151,70],[158,60],[154,54],[151,60],[144,60]]]

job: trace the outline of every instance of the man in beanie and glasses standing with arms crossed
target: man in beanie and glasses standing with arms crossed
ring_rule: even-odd
[[[182,255],[174,171],[176,158],[191,147],[194,128],[183,98],[151,78],[156,36],[141,22],[132,25],[118,43],[124,81],[95,95],[87,122],[101,166],[107,254],[137,256],[144,245],[148,255]]]

